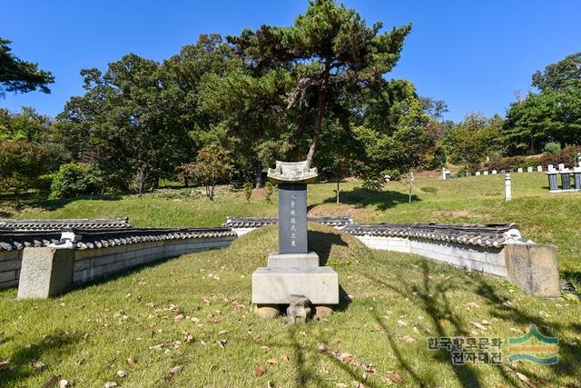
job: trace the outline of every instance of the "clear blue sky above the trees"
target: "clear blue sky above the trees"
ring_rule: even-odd
[[[345,0],[368,21],[411,22],[399,65],[388,75],[407,78],[420,95],[444,100],[447,118],[469,112],[504,114],[514,92],[526,95],[530,77],[545,65],[581,51],[581,1]],[[291,25],[302,0],[260,1],[28,1],[5,0],[0,36],[15,55],[56,77],[52,94],[6,95],[0,107],[23,105],[54,116],[83,93],[79,71],[104,69],[134,52],[162,59],[202,33],[237,34],[262,24]]]

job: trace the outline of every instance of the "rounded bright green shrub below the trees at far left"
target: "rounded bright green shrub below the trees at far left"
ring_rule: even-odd
[[[100,187],[97,169],[93,164],[61,164],[53,174],[51,198],[71,198],[83,194],[93,194]]]

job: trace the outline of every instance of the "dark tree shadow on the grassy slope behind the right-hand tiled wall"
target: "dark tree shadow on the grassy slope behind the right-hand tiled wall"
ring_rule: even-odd
[[[411,195],[411,200],[412,202],[420,201],[416,194]],[[335,204],[336,201],[337,198],[335,196],[330,196],[323,201],[323,204]],[[357,187],[348,192],[341,192],[340,203],[352,204],[358,208],[375,205],[379,210],[387,210],[397,204],[409,203],[409,195],[389,190],[373,191]]]

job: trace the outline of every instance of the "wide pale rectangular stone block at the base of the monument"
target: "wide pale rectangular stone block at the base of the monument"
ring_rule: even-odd
[[[313,304],[339,304],[339,276],[330,267],[261,267],[252,274],[252,303],[288,304],[291,294]]]

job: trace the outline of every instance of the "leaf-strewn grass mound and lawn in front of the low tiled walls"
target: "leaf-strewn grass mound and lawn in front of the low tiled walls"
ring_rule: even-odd
[[[579,303],[409,254],[370,251],[310,225],[311,247],[340,275],[329,321],[287,326],[250,305],[251,273],[277,246],[266,227],[231,247],[183,255],[47,301],[0,292],[0,386],[518,386],[579,384]],[[559,363],[453,366],[429,338],[559,338]],[[121,377],[123,376],[123,377]],[[575,385],[572,385],[575,386]]]

